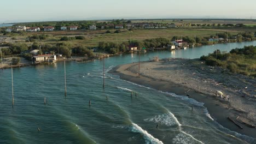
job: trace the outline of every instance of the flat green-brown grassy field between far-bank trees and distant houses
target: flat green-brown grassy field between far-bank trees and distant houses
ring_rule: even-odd
[[[83,35],[84,40],[69,40],[68,43],[72,45],[84,45],[86,47],[96,47],[100,41],[122,43],[129,40],[143,41],[145,39],[153,38],[167,38],[170,39],[173,36],[177,37],[208,37],[210,35],[216,35],[220,32],[229,32],[230,34],[237,34],[239,32],[251,31],[255,32],[256,28],[168,28],[168,29],[133,29],[127,31],[127,29],[121,30],[121,33],[114,33],[114,29],[110,30],[111,33],[106,33],[107,30],[99,31],[53,31],[53,32],[37,32],[37,33],[26,33],[25,35],[9,35],[5,40],[8,43],[25,43],[27,37],[34,34],[47,34],[49,37],[46,40],[37,40],[38,43],[45,44],[56,44],[60,41],[61,37],[74,37],[76,35]],[[32,43],[26,43],[32,44]]]

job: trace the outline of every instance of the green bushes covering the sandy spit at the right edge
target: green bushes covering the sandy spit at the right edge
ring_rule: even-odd
[[[232,49],[229,53],[219,50],[208,56],[200,57],[207,65],[228,69],[231,73],[239,73],[256,77],[256,46],[245,46],[243,49]]]

